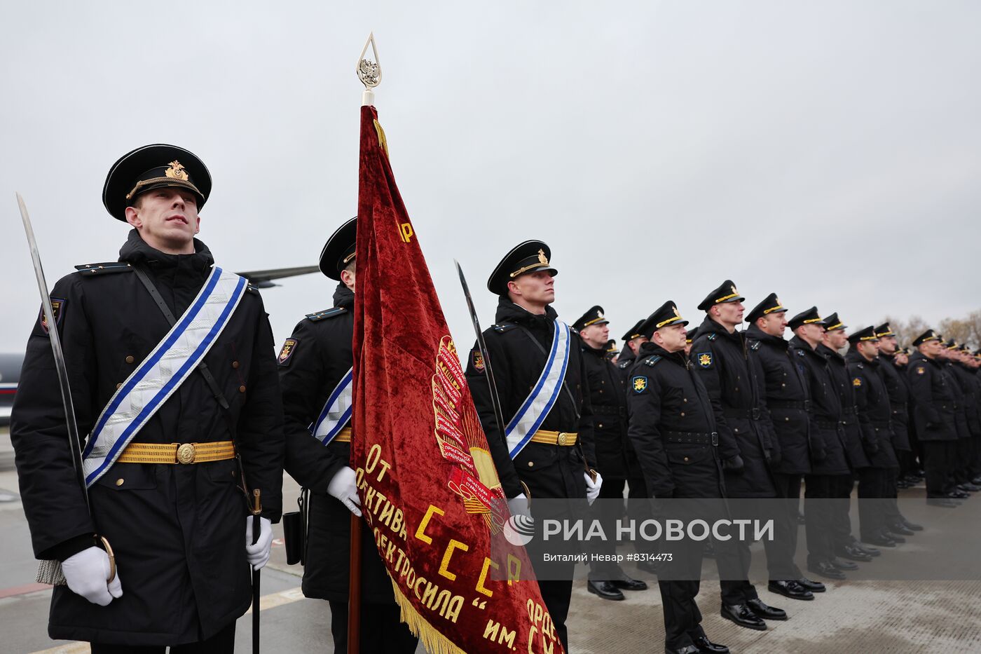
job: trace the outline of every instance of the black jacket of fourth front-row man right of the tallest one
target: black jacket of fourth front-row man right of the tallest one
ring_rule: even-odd
[[[889,391],[882,369],[889,362],[873,358],[871,361],[849,350],[845,360],[849,376],[852,377],[852,390],[858,414],[867,420],[862,423],[862,447],[871,467],[900,468],[893,448],[893,408],[889,403]]]

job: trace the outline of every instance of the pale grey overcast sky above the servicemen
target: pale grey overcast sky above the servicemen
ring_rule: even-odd
[[[512,245],[552,248],[556,309],[619,336],[726,278],[852,326],[978,301],[976,2],[13,2],[0,37],[0,351],[49,284],[115,260],[109,166],[173,142],[214,177],[200,238],[233,270],[315,263],[357,207],[361,84],[453,336],[453,269],[484,285]],[[958,251],[961,248],[962,251]],[[263,292],[276,340],[331,305],[322,276]]]

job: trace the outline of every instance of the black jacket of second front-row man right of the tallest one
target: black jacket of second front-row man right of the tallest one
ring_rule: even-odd
[[[790,353],[810,389],[811,474],[848,474],[842,402],[831,379],[828,359],[795,336]]]

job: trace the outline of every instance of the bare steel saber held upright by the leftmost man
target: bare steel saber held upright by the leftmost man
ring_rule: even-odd
[[[51,298],[48,294],[48,284],[44,279],[44,267],[41,265],[41,255],[37,251],[37,241],[34,239],[34,229],[30,225],[30,217],[27,215],[27,206],[21,193],[17,193],[17,204],[21,208],[21,220],[24,222],[24,232],[27,236],[27,245],[30,247],[30,260],[34,265],[34,278],[37,280],[37,292],[41,296],[41,310],[44,312],[44,319],[48,324],[48,337],[51,341],[51,353],[54,354],[55,369],[58,371],[58,386],[61,389],[62,406],[65,409],[65,425],[68,428],[69,450],[72,452],[72,467],[75,468],[75,476],[78,488],[81,489],[81,496],[85,498],[85,509],[88,515],[92,515],[91,506],[88,503],[88,487],[85,485],[85,473],[81,467],[81,439],[78,437],[78,423],[75,417],[75,405],[72,403],[72,388],[68,381],[68,366],[65,363],[65,353],[61,347],[61,336],[58,334],[58,323],[55,322],[55,311],[51,306]],[[107,583],[116,577],[116,559],[113,556],[109,542],[99,537],[103,548],[109,555],[109,578]],[[49,583],[51,585],[64,585],[65,574],[61,569],[59,561],[42,561],[37,568],[37,581],[39,583]]]

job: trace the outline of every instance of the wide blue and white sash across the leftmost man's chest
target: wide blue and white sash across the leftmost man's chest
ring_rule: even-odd
[[[212,268],[197,298],[102,409],[82,452],[86,486],[105,474],[197,367],[228,325],[247,286],[244,277]]]

